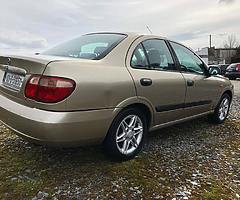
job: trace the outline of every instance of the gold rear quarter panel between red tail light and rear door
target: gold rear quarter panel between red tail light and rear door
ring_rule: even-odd
[[[116,108],[136,96],[133,80],[125,66],[100,61],[50,63],[44,75],[67,77],[76,88],[66,100],[66,110]]]

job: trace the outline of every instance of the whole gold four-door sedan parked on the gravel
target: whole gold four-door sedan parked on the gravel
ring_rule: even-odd
[[[0,120],[27,140],[102,143],[133,158],[149,131],[226,119],[233,86],[189,48],[153,35],[94,33],[39,55],[0,56]]]

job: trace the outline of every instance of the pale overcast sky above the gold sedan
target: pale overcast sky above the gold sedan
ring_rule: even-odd
[[[0,0],[0,49],[44,49],[96,31],[148,33],[193,49],[240,40],[240,0]]]

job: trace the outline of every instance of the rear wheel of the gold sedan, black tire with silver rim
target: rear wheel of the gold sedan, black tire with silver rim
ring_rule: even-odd
[[[132,159],[142,150],[146,134],[147,120],[142,112],[135,108],[125,109],[113,120],[103,144],[104,151],[114,160]]]

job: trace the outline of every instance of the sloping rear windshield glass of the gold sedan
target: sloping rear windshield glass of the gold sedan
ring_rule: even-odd
[[[105,57],[123,39],[124,34],[89,34],[60,44],[42,54],[100,60]]]

